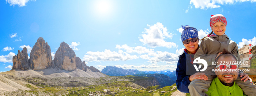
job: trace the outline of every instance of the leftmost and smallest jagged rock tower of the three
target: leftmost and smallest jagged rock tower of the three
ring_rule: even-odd
[[[12,57],[13,66],[12,69],[29,70],[29,58],[27,55],[27,48],[24,47],[18,54]]]

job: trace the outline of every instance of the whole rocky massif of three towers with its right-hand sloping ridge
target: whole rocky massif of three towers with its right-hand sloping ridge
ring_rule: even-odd
[[[89,72],[92,77],[97,77],[102,75],[102,73],[93,66],[86,66],[85,61],[79,57],[76,57],[76,54],[73,49],[65,42],[60,43],[59,49],[54,55],[52,60],[50,46],[48,42],[45,42],[44,38],[39,37],[33,49],[30,53],[30,59],[28,58],[27,48],[24,47],[18,54],[13,57],[13,67],[14,70],[58,70],[58,71],[74,71],[76,69],[83,70],[84,72]],[[76,70],[79,71],[79,70]],[[49,74],[49,73],[47,73]],[[94,74],[94,75],[93,75]],[[80,76],[81,74],[77,74]],[[105,76],[102,75],[102,76]],[[86,77],[86,76],[85,76]],[[101,77],[101,76],[99,76]]]

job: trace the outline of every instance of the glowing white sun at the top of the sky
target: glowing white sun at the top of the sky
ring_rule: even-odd
[[[96,2],[96,11],[98,14],[107,15],[111,11],[111,4],[109,0],[98,0]]]

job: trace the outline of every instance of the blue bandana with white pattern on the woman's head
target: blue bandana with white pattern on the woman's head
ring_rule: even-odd
[[[190,27],[188,25],[181,26],[184,29],[181,33],[181,41],[184,41],[189,38],[198,38],[198,32],[196,28]]]

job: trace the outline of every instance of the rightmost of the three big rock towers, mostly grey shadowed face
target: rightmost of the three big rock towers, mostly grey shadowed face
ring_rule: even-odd
[[[60,47],[54,55],[53,62],[55,64],[55,67],[61,70],[75,70],[76,54],[67,43],[62,42],[60,43]]]

